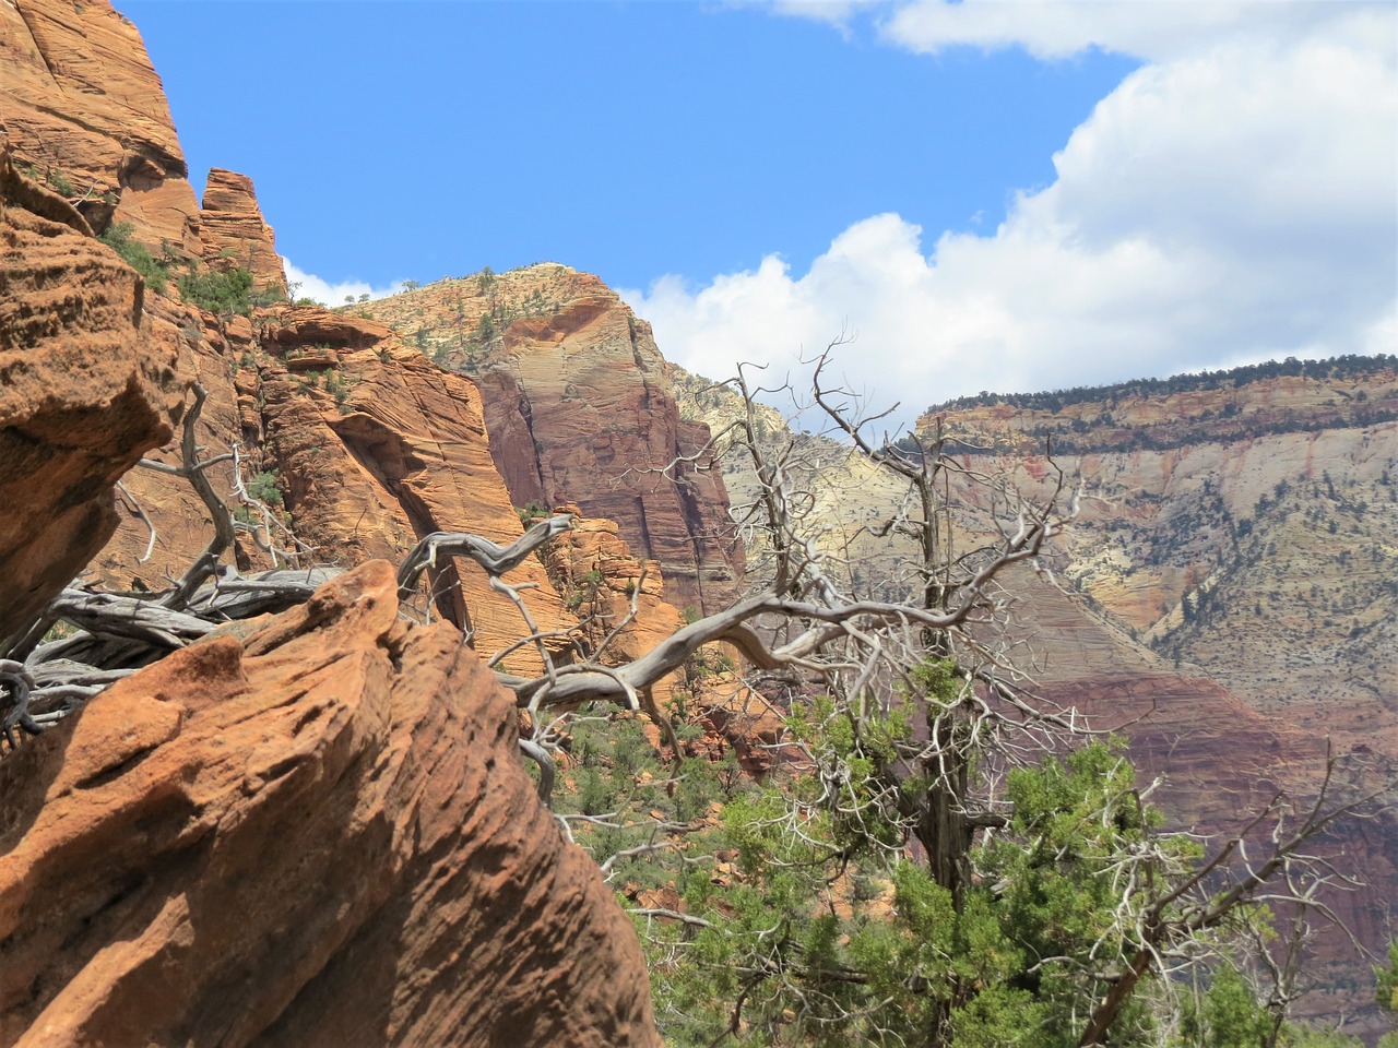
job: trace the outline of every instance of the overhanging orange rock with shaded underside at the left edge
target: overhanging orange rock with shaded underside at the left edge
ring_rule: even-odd
[[[140,277],[0,152],[0,640],[112,535],[112,486],[179,418],[176,354]]]

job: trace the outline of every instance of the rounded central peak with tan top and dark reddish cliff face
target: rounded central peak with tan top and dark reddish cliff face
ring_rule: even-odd
[[[679,418],[650,326],[600,279],[544,263],[356,309],[475,379],[514,504],[575,502],[615,520],[677,605],[716,611],[738,595],[742,552],[700,454],[707,428]]]

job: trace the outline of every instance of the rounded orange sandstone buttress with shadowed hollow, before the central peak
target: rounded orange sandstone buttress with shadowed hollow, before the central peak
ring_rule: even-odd
[[[292,530],[316,559],[398,562],[433,531],[498,542],[523,534],[470,380],[440,370],[382,324],[317,307],[281,312],[260,345],[253,366],[264,468],[275,472]],[[541,629],[576,622],[537,559],[510,581],[537,584],[524,601]],[[528,632],[475,565],[445,567],[436,588],[432,613],[468,629],[482,654]],[[535,660],[524,648],[512,668]]]

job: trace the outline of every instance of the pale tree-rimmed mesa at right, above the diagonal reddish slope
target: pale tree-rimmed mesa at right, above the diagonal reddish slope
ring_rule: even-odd
[[[1269,717],[1398,759],[1398,370],[1362,372],[939,415],[1015,446],[965,461],[1026,490],[1055,435],[1083,483],[1058,565],[1124,629]]]

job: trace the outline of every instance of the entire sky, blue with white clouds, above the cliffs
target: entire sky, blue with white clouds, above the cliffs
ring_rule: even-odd
[[[909,411],[1398,348],[1391,3],[116,3],[329,300],[562,261]]]

